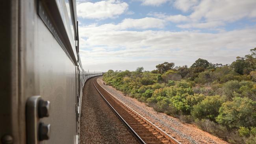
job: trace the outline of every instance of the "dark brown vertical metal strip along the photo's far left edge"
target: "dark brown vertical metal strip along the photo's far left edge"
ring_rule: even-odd
[[[0,139],[19,143],[18,0],[0,1]],[[1,143],[1,142],[0,142]]]

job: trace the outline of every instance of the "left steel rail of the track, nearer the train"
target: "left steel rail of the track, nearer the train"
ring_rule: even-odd
[[[124,123],[124,125],[126,127],[128,127],[129,131],[132,133],[132,135],[134,135],[134,137],[138,140],[138,142],[140,144],[146,144],[141,137],[139,137],[139,135],[134,131],[134,129],[132,129],[132,127],[129,126],[129,124],[122,118],[122,116],[117,113],[117,111],[110,105],[110,103],[106,100],[106,98],[104,98],[104,96],[101,94],[101,92],[98,90],[98,88],[96,87],[94,81],[96,78],[93,79],[93,85],[95,87],[95,89],[98,91],[98,93],[100,94],[100,96],[102,97],[102,99],[107,103],[107,105],[111,108],[111,110],[117,115],[117,117]]]

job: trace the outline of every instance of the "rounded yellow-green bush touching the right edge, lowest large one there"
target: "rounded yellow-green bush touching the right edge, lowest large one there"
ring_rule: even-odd
[[[222,104],[217,122],[229,128],[256,126],[256,102],[249,98],[233,98]]]

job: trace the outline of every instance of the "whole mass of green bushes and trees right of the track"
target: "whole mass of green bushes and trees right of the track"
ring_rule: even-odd
[[[198,59],[191,67],[164,62],[151,72],[109,70],[104,81],[182,123],[234,144],[255,144],[256,48],[250,52],[231,65]]]

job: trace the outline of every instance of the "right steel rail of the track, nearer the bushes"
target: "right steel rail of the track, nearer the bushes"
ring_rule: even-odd
[[[96,81],[97,82],[97,81]],[[97,82],[98,83],[98,82]],[[106,90],[104,87],[102,87],[99,83],[98,85],[104,89],[106,92],[108,92],[108,90]],[[150,122],[149,120],[147,120],[146,118],[144,118],[141,114],[137,113],[136,111],[134,111],[131,107],[129,107],[128,105],[126,105],[125,103],[123,103],[121,100],[119,100],[117,97],[115,97],[113,94],[111,94],[110,92],[108,92],[108,94],[110,94],[115,100],[117,100],[118,102],[122,103],[123,106],[125,106],[127,109],[129,109],[130,111],[132,111],[132,113],[136,114],[137,116],[139,116],[139,118],[143,119],[147,124],[151,125],[154,129],[157,129],[162,135],[164,135],[167,139],[169,139],[171,142],[173,142],[174,144],[182,144],[181,142],[179,142],[178,140],[176,140],[175,138],[173,138],[172,136],[170,136],[168,133],[166,133],[165,131],[163,131],[162,129],[160,129],[158,126],[156,126],[155,124],[153,124],[152,122]]]

